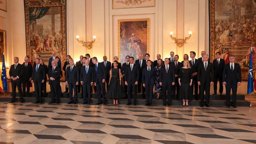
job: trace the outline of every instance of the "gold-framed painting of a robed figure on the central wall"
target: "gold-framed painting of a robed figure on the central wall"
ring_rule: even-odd
[[[149,53],[149,18],[118,20],[118,50],[121,63],[125,56],[138,59],[138,54]]]

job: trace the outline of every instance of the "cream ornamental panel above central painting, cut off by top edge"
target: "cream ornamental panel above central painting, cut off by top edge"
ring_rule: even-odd
[[[155,7],[156,0],[112,0],[112,9]]]

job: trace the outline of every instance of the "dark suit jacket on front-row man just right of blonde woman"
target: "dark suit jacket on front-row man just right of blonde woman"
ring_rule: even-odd
[[[210,83],[214,81],[214,68],[212,63],[208,62],[206,70],[204,69],[204,63],[198,64],[197,81],[200,81],[200,83]]]

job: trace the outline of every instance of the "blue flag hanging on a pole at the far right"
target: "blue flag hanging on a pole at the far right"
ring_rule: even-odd
[[[250,64],[249,64],[249,74],[247,83],[247,94],[253,92],[253,70],[252,70],[252,48],[250,50]]]

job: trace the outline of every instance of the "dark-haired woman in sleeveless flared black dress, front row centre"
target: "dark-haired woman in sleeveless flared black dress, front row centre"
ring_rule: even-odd
[[[113,68],[110,70],[110,78],[106,98],[113,99],[114,105],[118,105],[118,99],[124,98],[124,88],[121,85],[121,69],[117,67],[118,62],[114,61]]]

